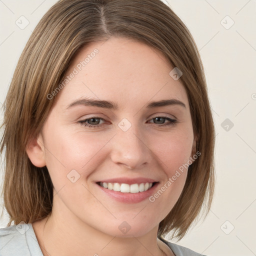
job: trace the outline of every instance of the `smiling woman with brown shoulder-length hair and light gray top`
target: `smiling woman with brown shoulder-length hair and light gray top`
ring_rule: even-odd
[[[164,235],[209,209],[214,127],[195,43],[161,1],[57,2],[3,125],[1,255],[199,255]]]

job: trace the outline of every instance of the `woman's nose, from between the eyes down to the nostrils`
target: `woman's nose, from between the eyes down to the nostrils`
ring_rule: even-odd
[[[150,163],[152,152],[148,141],[141,130],[135,125],[123,131],[116,128],[111,140],[111,160],[129,169],[139,169]]]

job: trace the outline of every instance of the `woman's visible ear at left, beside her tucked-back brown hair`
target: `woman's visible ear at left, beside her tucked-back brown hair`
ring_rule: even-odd
[[[43,167],[46,165],[41,133],[37,137],[32,136],[30,138],[26,146],[26,153],[32,164],[36,167]]]

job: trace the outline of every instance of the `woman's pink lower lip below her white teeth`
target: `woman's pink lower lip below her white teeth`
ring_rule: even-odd
[[[119,202],[125,202],[125,203],[136,203],[141,202],[148,198],[150,195],[153,194],[154,190],[158,186],[158,182],[155,183],[152,187],[147,189],[143,192],[138,193],[123,193],[120,191],[114,191],[107,188],[104,188],[98,184],[96,184],[103,192],[105,192],[107,195],[111,196],[112,198],[116,199]]]

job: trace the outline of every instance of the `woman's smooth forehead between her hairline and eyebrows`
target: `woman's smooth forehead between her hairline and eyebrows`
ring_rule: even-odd
[[[90,43],[75,55],[65,74],[69,80],[57,101],[67,105],[86,96],[130,107],[175,98],[187,105],[184,86],[169,75],[172,69],[156,48],[129,38],[110,37]]]

